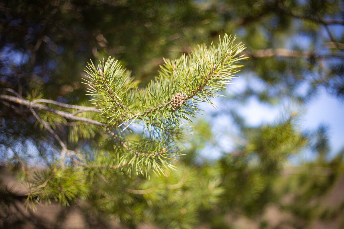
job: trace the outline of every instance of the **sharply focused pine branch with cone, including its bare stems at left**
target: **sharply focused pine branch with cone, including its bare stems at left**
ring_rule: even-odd
[[[0,100],[28,107],[60,144],[62,158],[67,154],[73,162],[88,168],[126,166],[128,172],[136,171],[136,174],[146,173],[149,176],[151,170],[164,174],[165,169],[175,169],[170,161],[182,155],[176,147],[176,140],[186,133],[184,121],[189,121],[191,116],[200,112],[198,103],[212,104],[210,100],[219,96],[216,93],[224,90],[239,71],[237,69],[243,67],[237,63],[246,59],[240,56],[245,47],[234,44],[234,41],[235,37],[225,35],[217,45],[200,45],[192,54],[182,55],[176,60],[164,59],[165,64],[161,66],[159,76],[145,89],[138,89],[138,82],[133,80],[130,72],[113,58],[102,60],[97,66],[90,62],[85,69],[87,78],[84,80],[96,108],[46,99],[28,101],[10,90],[6,91],[17,96],[0,95]],[[42,103],[60,107],[61,110]],[[44,119],[34,109],[46,111],[42,112]],[[54,118],[52,115],[55,115]],[[65,119],[80,122],[80,125],[76,127],[75,122],[65,124]],[[56,125],[60,125],[58,123],[71,126],[71,141],[77,141],[77,131],[84,131],[86,124],[104,128],[111,136],[110,140],[114,140],[111,153],[117,154],[117,165],[102,164],[113,161],[111,158],[104,160],[109,157],[104,153],[95,154],[95,164],[76,159],[73,156],[76,154],[67,150],[66,144],[53,130]],[[132,126],[139,129],[142,127],[142,130],[136,128],[135,131],[140,136],[139,140],[127,138],[127,130],[132,131]],[[89,133],[86,135],[91,136]]]

